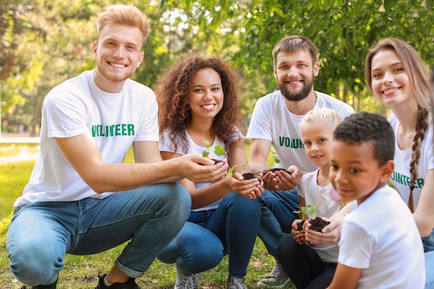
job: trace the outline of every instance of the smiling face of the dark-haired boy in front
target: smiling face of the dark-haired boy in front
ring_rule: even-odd
[[[373,153],[372,142],[349,144],[333,140],[329,178],[343,202],[357,200],[361,204],[390,176],[384,174],[384,166],[379,166]]]

